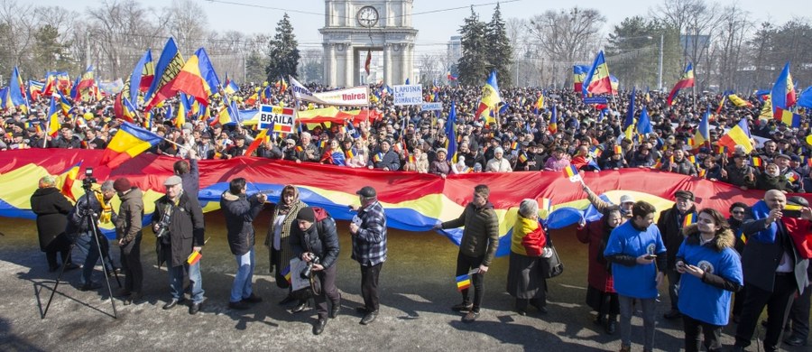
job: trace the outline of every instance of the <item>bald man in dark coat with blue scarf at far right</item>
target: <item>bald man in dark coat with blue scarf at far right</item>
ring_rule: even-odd
[[[747,244],[744,245],[742,269],[747,294],[744,297],[742,320],[736,327],[734,351],[743,351],[744,347],[750,346],[753,331],[765,306],[767,333],[764,336],[764,350],[778,350],[789,304],[797,292],[803,293],[808,289],[809,260],[798,254],[792,234],[794,231],[809,230],[794,227],[793,224],[806,223],[808,227],[807,221],[812,220],[812,208],[804,206],[799,214],[792,215],[799,215],[798,220],[789,218],[786,205],[787,196],[784,193],[768,190],[764,199],[752,206],[753,219],[743,224]]]

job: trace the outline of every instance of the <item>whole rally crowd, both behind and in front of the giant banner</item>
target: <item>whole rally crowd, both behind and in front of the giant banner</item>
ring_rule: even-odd
[[[441,177],[464,172],[561,171],[570,164],[582,171],[596,172],[652,168],[724,181],[742,190],[765,190],[764,198],[752,207],[736,203],[730,209],[700,208],[693,193],[680,190],[674,194],[673,208],[660,209],[655,225],[658,209],[651,204],[627,195],[621,204],[612,205],[584,186],[586,198],[604,214],[594,223],[581,224],[578,233],[579,240],[589,245],[587,304],[597,311],[595,322],[603,324],[607,333],[613,334],[618,329],[620,317],[622,351],[632,346],[631,317],[635,305],[642,310],[643,348],[653,349],[656,298],[660,283],[666,279],[670,310],[664,318],[684,321],[687,350],[699,350],[700,333],[708,350],[721,348],[721,329],[727,325],[731,310],[738,324],[734,349],[743,350],[750,345],[765,306],[769,312],[765,350],[776,350],[782,340],[793,346],[807,343],[807,286],[812,274],[808,271],[808,258],[812,250],[804,244],[810,241],[812,209],[805,199],[786,195],[810,190],[812,180],[807,161],[812,159],[812,147],[803,139],[809,133],[806,121],[802,121],[800,128],[791,128],[776,120],[760,119],[761,102],[753,96],[749,97],[752,107],[728,103],[718,107],[718,112],[714,107],[710,141],[694,146],[689,139],[693,138],[699,119],[706,109],[712,109],[712,104],[719,105],[721,96],[679,97],[669,107],[660,92],[638,93],[636,111],[639,114],[643,106],[647,108],[653,132],[627,138],[623,135],[623,121],[628,97],[623,94],[598,110],[583,104],[579,94],[565,89],[503,89],[505,105],[494,116],[495,121],[487,122],[489,119],[475,117],[480,94],[477,88],[427,88],[426,99],[442,102],[445,107],[439,116],[416,107],[395,107],[392,97],[383,94],[385,89],[371,90],[375,92],[371,108],[379,110],[381,118],[302,127],[299,132],[287,135],[273,134],[256,150],[256,156],[330,163],[337,167],[428,172]],[[272,91],[268,104],[294,105],[286,92]],[[244,88],[232,98],[250,108],[245,106],[245,97],[254,92],[254,88]],[[446,126],[452,101],[457,108],[457,121],[449,126],[455,131],[449,136]],[[120,124],[113,118],[113,104],[112,99],[79,103],[72,115],[61,117],[60,135],[55,137],[44,132],[45,100],[32,104],[28,115],[7,111],[3,146],[102,149]],[[184,275],[189,275],[189,313],[196,314],[203,303],[204,291],[199,262],[193,258],[205,245],[203,215],[197,199],[197,161],[245,156],[247,145],[259,132],[240,123],[219,125],[206,116],[180,124],[168,113],[173,104],[177,102],[171,99],[154,111],[149,121],[140,121],[142,117],[138,117],[135,122],[151,125],[155,133],[167,139],[155,146],[152,153],[180,158],[175,163],[176,175],[164,182],[166,195],[156,203],[152,230],[163,233],[159,237],[161,260],[170,269],[171,300],[163,309],[172,309],[184,301],[182,283]],[[211,116],[217,114],[215,110],[212,109]],[[712,147],[726,128],[741,119],[748,122],[753,135],[763,138],[752,153],[739,148],[724,151]],[[457,138],[456,151],[449,137]],[[448,160],[449,153],[456,153],[456,162]],[[758,162],[754,157],[758,157]],[[126,179],[107,183],[102,185],[92,206],[100,207],[101,212],[96,214],[102,214],[102,210],[109,211],[106,204],[114,192],[123,200],[118,212],[97,220],[115,224],[126,277],[121,293],[126,303],[137,304],[143,301],[139,258],[143,236],[141,191]],[[245,184],[245,179],[231,180],[221,199],[229,247],[237,264],[228,303],[235,310],[248,309],[262,301],[251,285],[255,264],[252,222],[267,199],[262,194],[246,195]],[[58,192],[54,195],[49,191],[53,187],[52,179],[40,182],[40,189],[32,197],[32,209],[41,217],[57,213],[77,218],[70,214],[73,207],[66,208],[56,199],[43,200],[44,195],[58,198]],[[378,278],[387,256],[386,218],[374,189],[364,187],[357,194],[360,206],[354,207],[358,213],[347,230],[353,236],[352,257],[360,264],[364,297],[364,306],[358,308],[363,315],[360,323],[367,325],[379,314]],[[488,200],[489,194],[487,186],[477,186],[472,201],[459,218],[435,226],[465,227],[457,256],[457,276],[469,275],[474,296],[472,299],[469,289],[464,288],[462,302],[452,307],[466,313],[465,322],[474,322],[479,317],[484,276],[498,245],[498,218]],[[34,203],[38,206],[34,207]],[[43,204],[49,207],[42,207]],[[515,308],[520,314],[526,314],[529,305],[544,313],[548,309],[542,272],[550,255],[549,234],[538,220],[539,206],[534,200],[525,199],[518,207],[507,291],[516,300]],[[789,208],[793,209],[791,213]],[[731,218],[724,218],[723,212],[730,212]],[[54,242],[53,238],[58,236],[53,232],[59,229],[53,228],[51,220],[47,222],[51,228],[44,221],[40,227],[41,245],[54,269],[58,267],[56,256],[63,250],[60,244],[65,241]],[[85,225],[75,232],[88,234],[88,231]],[[92,238],[92,234],[85,236]],[[280,204],[274,207],[272,226],[264,244],[269,247],[277,285],[288,290],[282,303],[296,302],[291,311],[298,312],[306,310],[312,298],[318,309],[313,333],[320,334],[328,320],[339,314],[341,300],[334,266],[340,250],[335,221],[323,209],[303,203],[299,191],[290,185],[282,191]],[[292,280],[289,281],[291,275],[298,274],[291,273],[289,263],[294,258],[312,270],[306,294],[294,290]],[[116,273],[115,267],[105,262],[106,258],[88,256],[85,266],[91,268],[90,273],[99,259],[105,263],[106,273]],[[63,259],[63,265],[67,269],[71,264]],[[89,273],[82,278],[83,288],[98,287]],[[788,320],[792,321],[793,332],[785,338],[783,331]]]

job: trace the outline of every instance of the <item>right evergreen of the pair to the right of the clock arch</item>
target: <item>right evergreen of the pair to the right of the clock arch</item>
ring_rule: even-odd
[[[512,86],[511,65],[513,58],[513,48],[507,37],[502,11],[499,4],[496,4],[494,16],[488,23],[485,32],[485,45],[487,46],[486,57],[489,68],[496,70],[496,77],[499,79],[499,87]]]

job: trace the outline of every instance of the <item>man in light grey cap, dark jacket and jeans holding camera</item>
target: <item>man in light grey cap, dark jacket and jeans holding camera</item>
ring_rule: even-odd
[[[200,262],[189,264],[188,258],[193,251],[203,249],[203,208],[198,199],[189,197],[183,191],[179,176],[170,176],[163,182],[166,195],[155,201],[155,212],[152,214],[152,230],[158,248],[160,265],[166,261],[170,277],[171,301],[163,305],[164,310],[171,310],[183,301],[183,274],[189,273],[192,305],[189,314],[197,314],[203,304],[203,281],[200,275]]]

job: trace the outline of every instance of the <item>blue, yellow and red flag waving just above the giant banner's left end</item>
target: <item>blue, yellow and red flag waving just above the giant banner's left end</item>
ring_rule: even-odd
[[[100,163],[107,165],[110,169],[115,169],[122,162],[133,159],[162,140],[163,138],[158,134],[125,122],[107,144]]]

